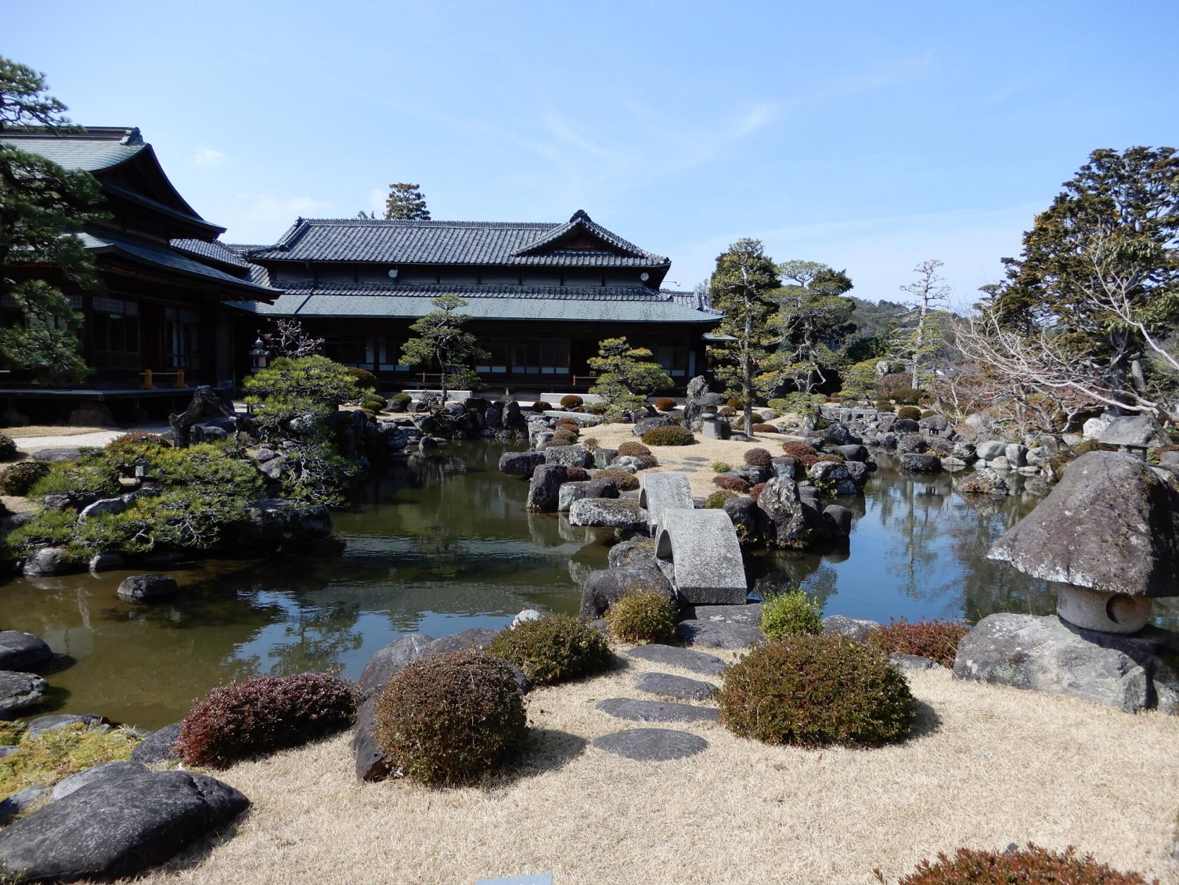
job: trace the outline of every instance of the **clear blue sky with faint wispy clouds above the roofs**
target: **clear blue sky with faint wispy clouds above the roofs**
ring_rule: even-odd
[[[1001,275],[1095,148],[1179,142],[1179,2],[0,0],[0,53],[137,125],[230,242],[383,206],[595,221],[691,288],[727,243],[896,299]]]

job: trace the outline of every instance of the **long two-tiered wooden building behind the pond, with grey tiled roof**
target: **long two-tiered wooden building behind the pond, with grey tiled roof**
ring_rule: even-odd
[[[238,352],[263,322],[295,317],[327,355],[388,388],[432,386],[436,367],[400,363],[409,324],[454,294],[488,352],[475,368],[493,391],[585,391],[598,342],[648,347],[676,387],[704,371],[719,321],[691,293],[660,289],[671,261],[578,211],[566,223],[299,218],[271,247],[232,247],[282,289],[246,301]]]

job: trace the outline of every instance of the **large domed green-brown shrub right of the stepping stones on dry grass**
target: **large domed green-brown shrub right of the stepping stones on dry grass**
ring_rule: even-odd
[[[725,671],[720,721],[765,743],[875,747],[909,734],[904,675],[876,648],[843,636],[789,636],[752,649]]]

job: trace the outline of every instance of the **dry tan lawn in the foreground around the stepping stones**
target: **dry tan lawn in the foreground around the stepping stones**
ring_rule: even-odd
[[[536,690],[536,736],[514,778],[432,792],[358,784],[347,735],[218,776],[253,807],[226,841],[151,883],[470,883],[552,871],[554,883],[890,881],[959,845],[1076,845],[1179,883],[1179,717],[915,673],[921,733],[875,750],[766,747],[720,726],[677,762],[587,741],[627,723],[594,709],[638,696],[631,661]],[[685,674],[692,675],[692,674]]]

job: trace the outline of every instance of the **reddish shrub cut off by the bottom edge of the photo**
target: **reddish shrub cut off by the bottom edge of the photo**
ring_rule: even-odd
[[[922,860],[897,885],[1148,885],[1141,873],[1124,873],[1099,864],[1092,854],[1076,856],[1028,843],[1015,851],[959,848],[953,858],[937,854],[937,863]],[[1154,879],[1155,885],[1158,879]]]

